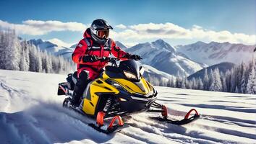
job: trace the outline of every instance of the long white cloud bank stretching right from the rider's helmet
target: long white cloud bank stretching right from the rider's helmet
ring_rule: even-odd
[[[146,40],[146,39],[169,39],[169,40],[207,40],[216,42],[233,42],[254,45],[256,35],[232,33],[227,30],[207,30],[198,25],[186,29],[179,25],[167,23],[148,23],[126,26],[121,32],[113,32],[114,37],[120,40]]]

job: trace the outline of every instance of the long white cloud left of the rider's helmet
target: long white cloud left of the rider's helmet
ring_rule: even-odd
[[[87,25],[78,22],[26,20],[22,24],[11,24],[0,20],[1,29],[15,29],[23,35],[45,35],[48,32],[72,31],[82,32]]]

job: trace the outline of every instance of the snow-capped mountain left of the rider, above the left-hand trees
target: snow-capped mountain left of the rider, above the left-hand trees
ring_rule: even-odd
[[[38,47],[40,50],[46,50],[48,53],[52,53],[54,55],[61,55],[64,58],[71,58],[74,50],[72,48],[66,48],[62,45],[57,45],[53,42],[44,41],[41,39],[29,40],[29,42]]]

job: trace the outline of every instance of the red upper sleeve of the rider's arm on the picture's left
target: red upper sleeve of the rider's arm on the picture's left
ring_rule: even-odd
[[[86,44],[85,40],[80,40],[77,44],[77,47],[74,49],[72,53],[72,60],[74,63],[83,63],[82,57],[85,55],[85,51],[87,50],[88,45]]]

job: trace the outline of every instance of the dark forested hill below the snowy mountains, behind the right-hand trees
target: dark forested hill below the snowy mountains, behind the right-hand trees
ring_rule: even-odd
[[[220,73],[226,73],[226,71],[231,70],[232,68],[234,68],[235,64],[234,63],[228,63],[228,62],[223,62],[223,63],[218,63],[216,65],[213,66],[209,66],[207,68],[203,68],[200,71],[197,71],[196,73],[193,73],[192,75],[188,76],[187,79],[191,80],[192,78],[203,78],[205,76],[205,69],[207,69],[208,71],[208,75],[210,74],[210,70],[214,70],[216,68],[218,68],[218,70],[220,71]]]

